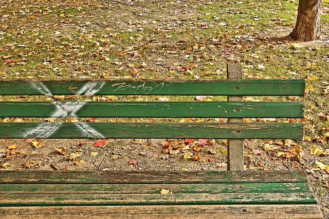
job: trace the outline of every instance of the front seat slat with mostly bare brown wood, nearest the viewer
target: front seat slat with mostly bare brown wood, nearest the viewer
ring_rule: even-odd
[[[322,219],[317,205],[166,205],[1,207],[3,218]]]

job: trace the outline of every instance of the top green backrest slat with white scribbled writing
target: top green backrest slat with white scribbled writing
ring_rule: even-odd
[[[303,96],[301,79],[0,79],[0,95]]]

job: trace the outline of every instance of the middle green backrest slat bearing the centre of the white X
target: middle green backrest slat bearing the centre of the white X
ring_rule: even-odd
[[[301,102],[0,102],[3,117],[304,116]]]

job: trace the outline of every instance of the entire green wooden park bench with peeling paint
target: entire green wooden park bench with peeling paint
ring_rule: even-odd
[[[1,79],[0,95],[224,95],[225,102],[0,102],[2,117],[228,117],[228,123],[0,123],[1,138],[228,138],[228,171],[0,171],[1,218],[322,218],[304,171],[243,171],[245,138],[298,139],[304,80]],[[160,194],[161,189],[172,194]]]

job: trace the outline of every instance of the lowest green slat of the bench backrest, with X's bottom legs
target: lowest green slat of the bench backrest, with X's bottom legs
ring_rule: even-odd
[[[0,138],[300,139],[302,123],[0,123]]]

